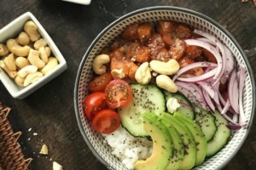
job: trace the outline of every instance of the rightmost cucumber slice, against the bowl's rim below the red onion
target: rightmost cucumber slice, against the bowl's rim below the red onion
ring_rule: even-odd
[[[228,127],[229,122],[222,116],[219,111],[215,111],[213,116],[216,117],[215,123],[218,127],[213,139],[207,144],[207,156],[213,156],[221,150],[230,139],[231,130]]]

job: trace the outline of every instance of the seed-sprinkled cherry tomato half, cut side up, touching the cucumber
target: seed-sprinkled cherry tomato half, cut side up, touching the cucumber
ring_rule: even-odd
[[[120,79],[109,82],[105,89],[105,94],[107,104],[112,108],[128,105],[132,99],[129,84]]]

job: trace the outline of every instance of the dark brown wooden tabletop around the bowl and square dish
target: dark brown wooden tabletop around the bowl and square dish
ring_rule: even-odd
[[[12,108],[9,121],[15,132],[22,132],[19,142],[25,156],[33,159],[32,169],[52,169],[52,161],[59,162],[66,170],[106,169],[85,144],[76,122],[73,90],[79,63],[90,42],[113,20],[138,8],[157,5],[190,8],[206,14],[225,26],[242,48],[256,47],[256,8],[252,2],[92,0],[89,6],[84,6],[61,0],[1,0],[0,28],[30,11],[67,60],[67,71],[26,99],[13,99],[0,82],[0,99]],[[249,60],[256,73],[256,58]],[[241,150],[224,169],[256,167],[255,128],[254,121]],[[49,146],[48,156],[39,155],[42,144]]]

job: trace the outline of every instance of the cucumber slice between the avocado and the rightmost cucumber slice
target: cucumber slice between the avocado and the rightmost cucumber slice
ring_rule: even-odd
[[[196,107],[195,110],[195,122],[200,125],[202,132],[205,134],[207,142],[209,142],[212,140],[218,129],[216,125],[216,118],[210,111],[206,111],[198,107]]]

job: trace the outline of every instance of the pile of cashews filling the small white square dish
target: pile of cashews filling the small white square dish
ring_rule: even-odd
[[[15,39],[0,43],[0,67],[20,87],[37,82],[58,65],[38,26],[29,20],[23,29]]]

